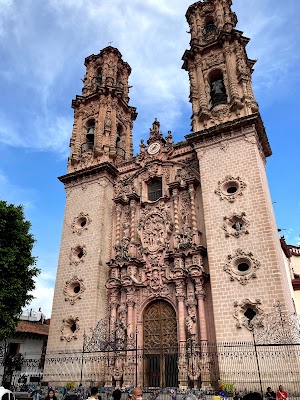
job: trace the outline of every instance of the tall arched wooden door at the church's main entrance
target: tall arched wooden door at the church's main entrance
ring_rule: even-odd
[[[177,321],[166,301],[151,303],[144,312],[144,386],[178,386]]]

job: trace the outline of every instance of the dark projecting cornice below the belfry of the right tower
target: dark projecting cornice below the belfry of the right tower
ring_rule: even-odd
[[[255,129],[265,157],[269,157],[272,154],[272,150],[259,113],[241,117],[233,121],[228,121],[224,124],[203,129],[199,132],[191,133],[186,135],[186,139],[192,147],[200,147],[201,144],[224,139],[225,137],[227,137],[227,139],[229,139],[229,137],[234,137],[235,131],[238,131],[237,134],[241,134],[242,128],[251,124],[255,125]]]

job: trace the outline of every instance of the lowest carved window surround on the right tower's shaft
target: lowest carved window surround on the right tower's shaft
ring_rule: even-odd
[[[260,307],[261,302],[260,299],[250,300],[244,299],[240,302],[235,301],[233,317],[236,319],[236,327],[242,328],[243,326],[247,328],[249,331],[252,331],[255,327],[262,326],[262,318],[264,316],[264,311]],[[251,319],[247,317],[247,310],[251,311]]]

